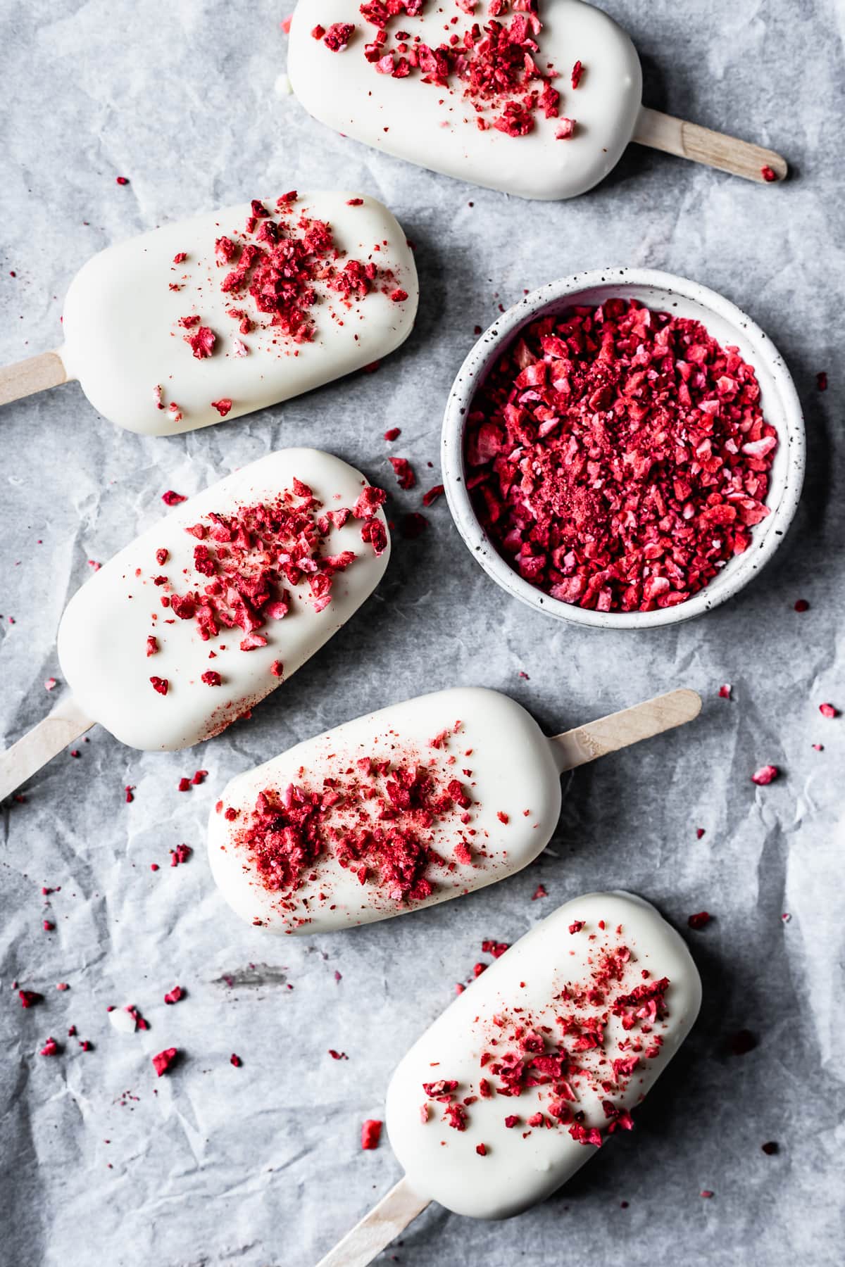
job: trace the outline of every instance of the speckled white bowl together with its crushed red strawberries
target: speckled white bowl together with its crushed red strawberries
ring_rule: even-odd
[[[452,385],[441,459],[465,544],[557,620],[701,616],[772,557],[804,427],[768,336],[713,290],[606,269],[526,295]]]

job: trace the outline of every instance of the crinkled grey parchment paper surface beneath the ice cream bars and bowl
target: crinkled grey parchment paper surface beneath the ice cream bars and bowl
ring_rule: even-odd
[[[308,1267],[398,1177],[386,1139],[360,1152],[360,1124],[381,1116],[394,1064],[486,958],[481,940],[513,941],[579,892],[627,887],[688,935],[704,982],[701,1020],[637,1129],[523,1218],[476,1224],[432,1207],[384,1261],[841,1262],[845,720],[825,721],[818,704],[845,707],[842,9],[607,0],[641,52],[647,104],[772,144],[792,179],[761,188],[632,147],[599,189],[549,205],[418,171],[313,123],[274,91],[289,8],[0,5],[0,361],[56,346],[62,295],[94,251],[291,186],[386,201],[416,243],[422,290],[414,333],[379,372],[232,424],[139,438],[99,418],[76,385],[4,411],[6,742],[54,699],[43,682],[60,675],[56,627],[87,560],[157,518],[166,488],[193,493],[270,449],[314,443],[384,481],[393,513],[417,509],[419,488],[395,489],[384,430],[402,427],[393,451],[423,488],[435,483],[441,408],[474,324],[555,276],[649,265],[750,312],[803,402],[806,492],[749,589],[698,622],[642,634],[559,626],[507,599],[441,499],[424,537],[397,538],[346,634],[250,723],[172,755],[95,729],[79,760],[42,770],[27,803],[0,817],[0,1259]],[[722,682],[732,702],[717,698]],[[508,882],[334,938],[280,944],[241,924],[204,856],[215,791],[327,726],[457,683],[508,691],[549,730],[679,684],[706,706],[694,727],[580,770],[550,849]],[[749,775],[768,761],[784,775],[755,788]],[[200,767],[206,783],[179,794],[180,775]],[[179,841],[195,854],[171,869]],[[549,897],[532,902],[541,881]],[[61,886],[49,911],[42,886]],[[702,908],[715,921],[689,933]],[[23,1011],[14,979],[46,1002]],[[58,981],[71,990],[57,993]],[[176,982],[187,997],[165,1007]],[[148,1033],[113,1031],[106,1006],[129,1002]],[[94,1050],[35,1054],[70,1024]],[[759,1041],[737,1057],[740,1028]],[[149,1055],[171,1044],[185,1058],[156,1081]],[[763,1154],[765,1140],[778,1156]]]

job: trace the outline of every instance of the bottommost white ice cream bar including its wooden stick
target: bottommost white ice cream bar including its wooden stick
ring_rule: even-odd
[[[588,893],[559,907],[400,1062],[386,1124],[405,1177],[319,1267],[364,1267],[432,1200],[476,1219],[545,1200],[635,1129],[699,1005],[687,946],[647,902]]]

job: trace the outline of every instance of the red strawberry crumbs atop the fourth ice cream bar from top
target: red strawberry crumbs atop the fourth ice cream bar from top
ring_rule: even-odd
[[[473,801],[450,779],[440,753],[423,755],[391,744],[389,759],[331,751],[322,779],[300,770],[296,783],[265,788],[255,807],[241,813],[231,834],[261,884],[279,895],[277,906],[302,922],[319,901],[332,901],[331,867],[351,872],[371,898],[424,901],[435,889],[432,872],[455,864],[433,846],[473,839],[466,829]],[[228,815],[224,815],[228,817]],[[467,859],[474,862],[470,855]],[[296,902],[305,882],[318,881],[318,896]]]

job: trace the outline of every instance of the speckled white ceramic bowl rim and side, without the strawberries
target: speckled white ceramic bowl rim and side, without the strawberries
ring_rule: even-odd
[[[475,517],[466,492],[464,419],[476,386],[490,362],[523,326],[546,313],[574,304],[600,304],[606,299],[639,299],[650,308],[702,322],[720,343],[739,347],[754,366],[760,384],[761,408],[778,431],[778,449],[770,474],[766,504],[770,514],[751,530],[751,545],[685,603],[654,612],[597,612],[551,598],[523,580],[499,555]],[[778,549],[796,513],[804,475],[804,424],[794,384],[783,357],[759,326],[735,304],[697,281],[652,269],[602,269],[550,281],[509,308],[481,334],[459,370],[446,405],[441,461],[443,484],[457,531],[484,570],[514,598],[559,621],[600,628],[647,628],[674,625],[718,607],[742,588]]]

